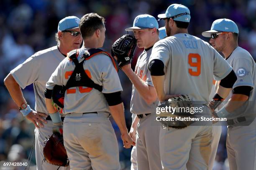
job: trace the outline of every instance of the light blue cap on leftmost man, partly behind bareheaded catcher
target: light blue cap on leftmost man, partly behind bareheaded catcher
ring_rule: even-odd
[[[76,16],[69,16],[59,21],[58,31],[79,28],[80,19]]]

